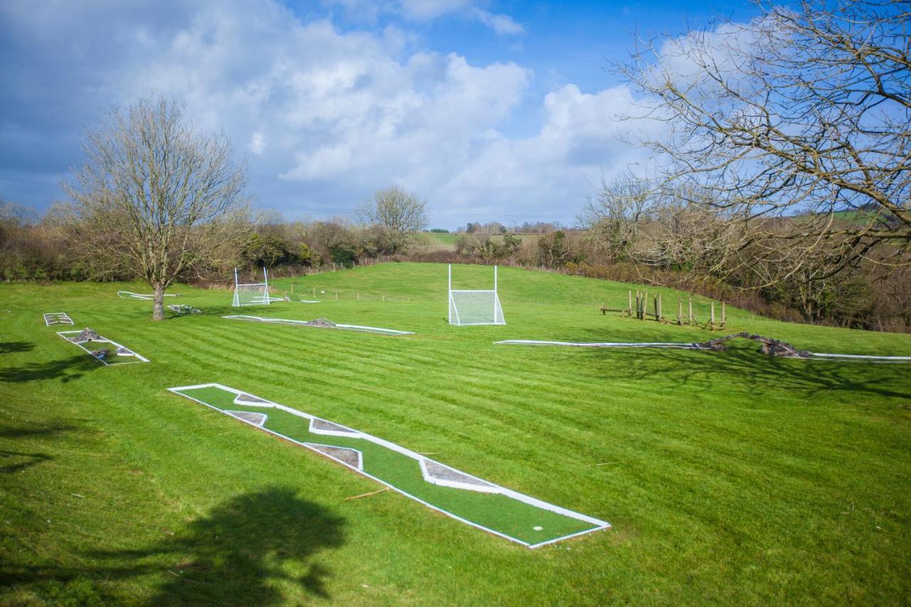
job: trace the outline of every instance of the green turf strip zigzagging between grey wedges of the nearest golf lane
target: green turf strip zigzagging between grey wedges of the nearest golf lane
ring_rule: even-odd
[[[498,493],[441,487],[425,481],[415,458],[358,437],[336,437],[310,431],[310,420],[271,406],[246,406],[234,402],[234,392],[217,386],[172,389],[220,411],[265,413],[263,427],[299,442],[352,448],[363,454],[363,471],[393,489],[431,504],[445,513],[506,535],[529,546],[548,543],[604,524],[580,520]]]

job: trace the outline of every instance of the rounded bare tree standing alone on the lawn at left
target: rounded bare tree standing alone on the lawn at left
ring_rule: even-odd
[[[148,282],[152,318],[163,320],[169,284],[240,252],[244,171],[227,139],[195,129],[164,98],[113,108],[83,149],[76,184],[65,184],[81,247],[102,272]]]

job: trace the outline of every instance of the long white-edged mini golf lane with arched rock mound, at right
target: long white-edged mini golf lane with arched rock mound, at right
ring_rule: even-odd
[[[784,358],[803,358],[813,360],[865,360],[874,363],[911,363],[911,356],[876,356],[876,355],[844,355],[824,354],[800,350],[787,342],[772,337],[750,334],[746,332],[735,333],[712,339],[707,342],[557,342],[537,339],[505,339],[494,342],[494,345],[564,345],[581,348],[670,348],[681,350],[709,350],[724,352],[727,350],[725,342],[735,338],[749,339],[760,342],[759,352],[764,355]]]

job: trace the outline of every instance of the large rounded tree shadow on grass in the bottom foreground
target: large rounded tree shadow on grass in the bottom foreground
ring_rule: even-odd
[[[91,567],[4,571],[0,565],[0,580],[41,593],[48,581],[57,586],[84,580],[143,584],[151,576],[160,585],[149,604],[288,602],[281,586],[328,599],[325,581],[332,572],[316,556],[344,544],[344,525],[342,517],[301,499],[296,489],[271,487],[223,501],[173,533],[163,530],[162,540],[147,547],[84,554],[97,563]]]

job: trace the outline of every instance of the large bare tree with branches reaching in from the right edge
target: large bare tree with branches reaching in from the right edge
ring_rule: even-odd
[[[729,271],[786,256],[796,273],[819,251],[838,252],[829,274],[911,262],[908,5],[760,6],[621,67],[644,93],[639,118],[666,122],[644,141],[665,187],[742,224],[719,257]]]

